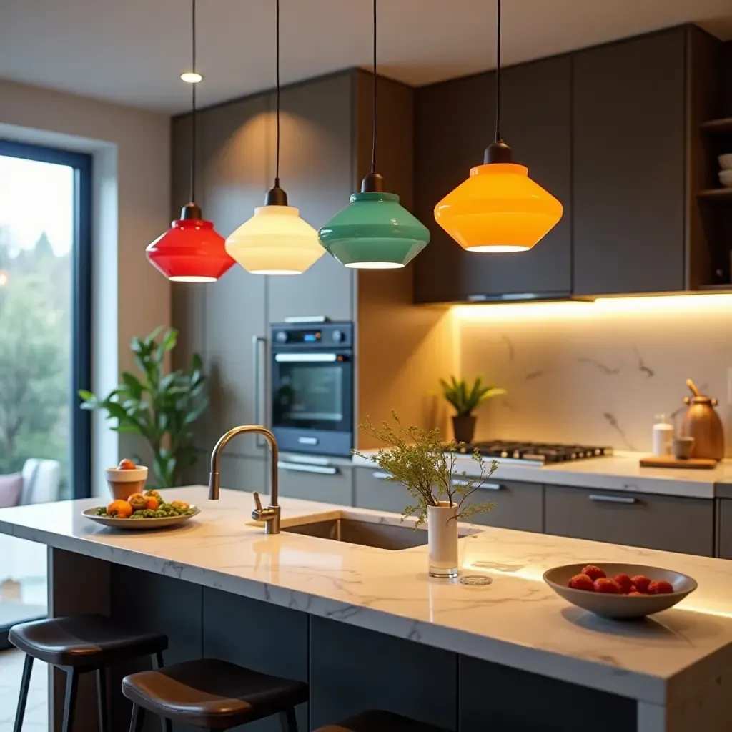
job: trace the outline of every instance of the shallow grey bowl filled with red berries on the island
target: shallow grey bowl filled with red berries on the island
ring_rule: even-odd
[[[608,561],[547,569],[544,581],[572,605],[615,620],[673,608],[697,587],[695,580],[671,569]]]

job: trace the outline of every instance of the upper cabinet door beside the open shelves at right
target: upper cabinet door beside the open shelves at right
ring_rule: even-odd
[[[685,33],[572,56],[575,294],[684,288]]]

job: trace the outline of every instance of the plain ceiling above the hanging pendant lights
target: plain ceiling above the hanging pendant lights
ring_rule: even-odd
[[[201,105],[274,86],[275,0],[198,0]],[[370,62],[370,0],[281,0],[283,83]],[[494,67],[489,0],[381,0],[379,70],[419,86]],[[504,0],[515,64],[692,21],[730,0]],[[0,78],[175,113],[190,103],[190,0],[0,0]],[[0,100],[1,104],[1,100]]]

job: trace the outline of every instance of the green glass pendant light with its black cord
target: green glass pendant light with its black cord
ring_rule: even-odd
[[[371,172],[361,193],[318,231],[318,240],[339,262],[354,269],[397,269],[408,264],[429,243],[430,232],[399,196],[384,192],[376,172],[376,0],[373,0],[373,138]]]

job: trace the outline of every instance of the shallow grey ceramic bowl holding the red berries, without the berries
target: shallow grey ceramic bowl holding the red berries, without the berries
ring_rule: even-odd
[[[589,610],[591,613],[600,615],[603,618],[613,620],[625,620],[633,618],[644,618],[646,615],[660,613],[661,610],[673,608],[677,602],[684,600],[684,597],[693,592],[697,584],[695,580],[682,575],[680,572],[672,572],[671,569],[660,567],[647,567],[645,564],[616,564],[609,561],[597,562],[597,567],[605,570],[608,577],[617,575],[645,575],[651,580],[666,580],[673,586],[673,592],[663,595],[643,595],[643,597],[630,597],[628,595],[602,594],[600,592],[588,592],[586,590],[575,590],[567,587],[572,577],[580,574],[587,564],[564,564],[562,567],[554,567],[544,572],[544,581],[550,586],[559,597],[563,597],[572,605],[578,608]]]

